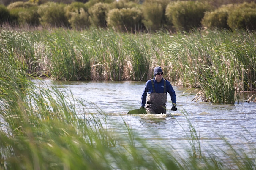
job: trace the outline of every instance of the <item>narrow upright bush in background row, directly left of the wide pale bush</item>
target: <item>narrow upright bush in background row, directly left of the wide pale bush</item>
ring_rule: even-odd
[[[97,3],[89,9],[91,24],[96,27],[106,27],[106,19],[109,10],[109,5]]]

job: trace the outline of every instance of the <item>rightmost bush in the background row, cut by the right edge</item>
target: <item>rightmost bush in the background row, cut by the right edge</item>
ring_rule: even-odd
[[[256,4],[243,3],[237,4],[230,11],[227,19],[228,26],[234,31],[236,29],[256,29]]]

